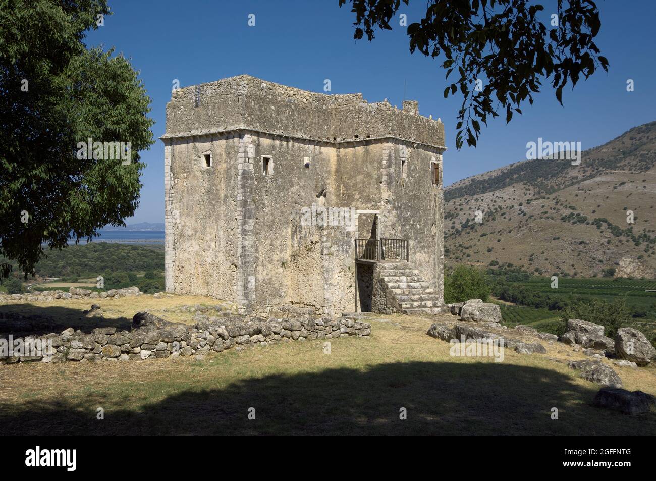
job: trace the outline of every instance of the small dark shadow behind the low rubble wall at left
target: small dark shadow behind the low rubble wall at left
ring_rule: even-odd
[[[91,309],[93,299],[87,309]],[[132,319],[114,317],[99,311],[102,317],[85,316],[79,308],[65,306],[37,306],[35,304],[5,304],[0,306],[0,337],[11,334],[16,337],[60,333],[68,327],[91,333],[96,327],[116,327],[129,330]],[[17,317],[16,314],[19,316]]]

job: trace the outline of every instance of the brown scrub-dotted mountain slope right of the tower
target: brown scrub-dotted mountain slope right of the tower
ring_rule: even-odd
[[[585,150],[445,188],[445,261],[656,278],[656,122]]]

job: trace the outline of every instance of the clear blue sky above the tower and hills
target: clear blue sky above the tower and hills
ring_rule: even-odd
[[[556,0],[543,0],[545,12]],[[461,97],[443,98],[447,85],[441,60],[410,54],[405,27],[376,39],[354,41],[354,14],[338,0],[279,1],[134,1],[110,0],[113,15],[89,33],[88,46],[115,47],[131,58],[152,98],[155,138],[165,129],[165,106],[173,79],[180,86],[248,73],[255,77],[310,91],[363,93],[369,102],[387,98],[401,107],[405,98],[419,101],[421,115],[441,117],[445,125],[444,183],[525,159],[526,142],[538,137],[579,141],[583,150],[656,120],[656,35],[652,0],[599,0],[602,29],[596,43],[610,62],[573,91],[565,89],[564,107],[544,86],[533,106],[506,125],[504,115],[488,122],[478,147],[455,148],[455,125]],[[402,5],[408,24],[419,21],[426,2]],[[248,25],[255,14],[255,26]],[[548,20],[548,19],[546,19]],[[626,91],[633,79],[634,92]],[[455,80],[455,79],[454,79]],[[163,146],[160,140],[142,152],[140,206],[128,224],[163,222]]]

